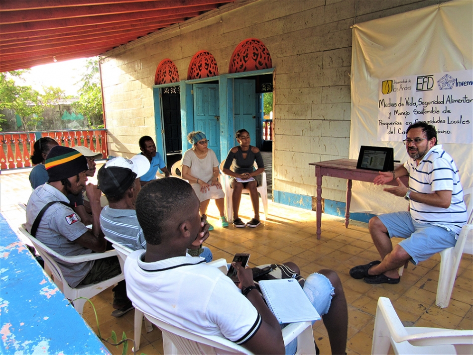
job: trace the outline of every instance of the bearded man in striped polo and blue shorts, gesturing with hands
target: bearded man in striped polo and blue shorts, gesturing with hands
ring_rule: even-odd
[[[463,200],[458,169],[452,157],[437,141],[435,127],[425,122],[407,128],[406,145],[410,159],[392,172],[379,172],[375,185],[396,179],[398,186],[384,191],[409,201],[409,211],[382,214],[369,221],[369,233],[381,261],[355,266],[354,278],[366,283],[398,283],[398,268],[406,261],[417,263],[455,246],[467,208]],[[409,187],[399,177],[409,176]],[[391,237],[404,238],[394,248]]]

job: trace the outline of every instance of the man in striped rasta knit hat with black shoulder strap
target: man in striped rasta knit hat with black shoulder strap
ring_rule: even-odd
[[[87,184],[87,159],[68,147],[55,146],[49,152],[45,168],[49,180],[36,188],[26,206],[26,230],[46,246],[64,256],[103,253],[107,241],[100,230],[101,191]],[[74,212],[66,195],[78,195],[85,187],[92,209],[92,230]],[[79,264],[59,264],[71,287],[101,282],[120,273],[117,257]],[[114,288],[112,315],[118,317],[132,309],[124,281]]]

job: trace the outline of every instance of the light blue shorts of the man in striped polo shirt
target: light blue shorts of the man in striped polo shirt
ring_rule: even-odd
[[[378,216],[387,228],[389,237],[404,238],[399,245],[409,254],[415,265],[429,259],[435,253],[455,247],[455,232],[412,219],[408,211]]]

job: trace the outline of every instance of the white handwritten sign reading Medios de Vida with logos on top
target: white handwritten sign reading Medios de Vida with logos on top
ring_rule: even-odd
[[[378,141],[400,142],[407,127],[435,126],[441,143],[473,142],[473,70],[379,81]]]

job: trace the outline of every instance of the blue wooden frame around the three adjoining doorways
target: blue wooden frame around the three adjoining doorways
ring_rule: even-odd
[[[163,124],[162,124],[162,108],[159,89],[165,87],[174,87],[179,85],[181,95],[181,134],[182,134],[182,151],[185,152],[191,148],[191,144],[187,142],[187,134],[194,130],[194,100],[193,100],[193,84],[219,82],[219,108],[220,108],[220,156],[221,159],[227,157],[228,151],[233,147],[235,122],[234,122],[234,79],[253,77],[257,75],[272,74],[275,68],[255,70],[252,72],[222,74],[217,77],[182,80],[179,83],[154,85],[154,114],[156,124],[156,148],[159,152],[165,152],[163,141]],[[158,89],[158,90],[157,90]],[[158,95],[156,96],[156,90]],[[256,99],[258,99],[256,95]],[[158,99],[156,99],[158,97]],[[259,115],[261,117],[261,115]],[[256,112],[258,118],[258,112]],[[158,119],[159,118],[159,119]],[[262,118],[259,118],[262,119]],[[159,127],[158,127],[159,124]],[[159,134],[158,134],[159,132]],[[261,131],[259,131],[261,132]],[[258,134],[258,131],[256,131]],[[158,147],[158,136],[160,146]]]

